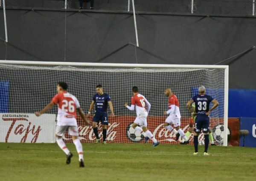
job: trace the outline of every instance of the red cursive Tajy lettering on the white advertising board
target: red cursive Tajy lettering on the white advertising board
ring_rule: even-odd
[[[32,125],[32,123],[26,119],[28,116],[14,116],[15,118],[6,118],[9,116],[3,116],[2,119],[3,121],[12,121],[12,124],[9,126],[8,132],[6,134],[5,142],[8,142],[9,136],[10,135],[23,135],[23,137],[20,139],[21,143],[25,143],[26,139],[29,134],[34,135],[32,140],[30,141],[31,143],[36,143],[38,139],[38,135],[40,133],[41,126],[36,127],[35,125]],[[19,121],[19,124],[16,124],[17,121]],[[27,126],[23,122],[29,122]],[[27,124],[26,122],[26,124]]]

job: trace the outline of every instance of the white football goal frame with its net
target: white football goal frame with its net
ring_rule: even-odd
[[[167,100],[163,95],[164,87],[171,86],[173,88],[173,92],[180,101],[181,115],[184,117],[182,121],[186,122],[190,115],[184,104],[189,101],[192,94],[197,92],[197,87],[204,84],[208,94],[213,94],[212,97],[216,97],[221,103],[220,108],[216,108],[213,111],[211,121],[213,126],[223,124],[224,138],[219,140],[218,145],[227,146],[228,74],[229,67],[219,65],[0,60],[0,90],[1,81],[9,81],[9,104],[6,108],[6,110],[8,109],[8,113],[19,112],[31,114],[36,111],[35,109],[43,108],[56,93],[55,86],[52,85],[55,85],[58,81],[67,80],[71,89],[70,93],[78,97],[79,101],[82,102],[84,112],[87,112],[91,98],[95,94],[96,84],[102,83],[103,87],[106,87],[106,92],[113,99],[114,109],[117,115],[116,119],[120,120],[118,124],[122,124],[123,121],[127,121],[123,119],[132,120],[134,118],[134,112],[128,112],[123,106],[123,103],[130,101],[132,96],[131,87],[136,85],[139,91],[141,90],[141,93],[151,102],[152,108],[148,118],[148,124],[152,124],[153,126],[150,127],[151,132],[158,134],[159,139],[161,136],[165,136],[166,139],[163,140],[163,143],[171,143],[170,140],[172,139],[171,137],[169,138],[171,134],[160,128],[160,123],[164,120],[164,116],[161,114],[167,104]],[[41,84],[41,88],[44,89],[41,93],[42,97],[37,98],[34,104],[35,96],[40,94],[40,89],[35,88],[35,86]],[[21,93],[17,93],[19,91]],[[87,95],[88,98],[86,97]],[[29,102],[29,105],[26,105],[25,100]],[[4,111],[0,109],[1,112],[3,113]],[[56,109],[49,113],[56,114]],[[108,130],[109,132],[114,130],[115,125],[111,124],[111,126],[111,129]],[[128,132],[127,128],[129,128],[127,125],[122,126],[122,129],[125,129],[124,132]],[[81,126],[81,129],[83,129],[84,135],[87,134],[85,131],[87,128]],[[90,135],[89,132],[88,135]],[[111,142],[117,137],[118,133],[111,132],[108,138]],[[84,139],[84,142],[92,141],[87,137],[80,139]],[[126,138],[120,138],[117,142],[127,143],[128,141]],[[140,140],[135,140],[135,142],[140,142]]]

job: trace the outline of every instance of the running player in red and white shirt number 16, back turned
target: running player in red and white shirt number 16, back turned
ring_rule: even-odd
[[[145,143],[150,138],[154,142],[153,147],[156,147],[157,145],[159,145],[159,142],[156,140],[156,138],[154,138],[154,136],[148,130],[148,127],[147,127],[147,116],[148,116],[148,112],[150,110],[151,104],[143,95],[139,94],[138,92],[139,92],[138,87],[134,86],[132,88],[132,93],[134,96],[131,98],[131,106],[128,106],[128,103],[125,103],[125,107],[127,107],[130,111],[133,111],[135,107],[137,118],[134,120],[132,127],[140,133],[144,132],[144,134],[146,135]]]

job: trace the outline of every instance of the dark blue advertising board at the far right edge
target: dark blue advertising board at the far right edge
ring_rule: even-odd
[[[249,135],[245,136],[245,147],[256,147],[256,118],[240,118],[240,129],[247,129]],[[239,138],[239,146],[243,146],[243,136]]]

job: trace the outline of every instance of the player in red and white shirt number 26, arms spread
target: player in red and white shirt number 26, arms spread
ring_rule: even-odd
[[[68,131],[69,135],[72,136],[73,143],[76,146],[76,150],[79,155],[79,166],[84,167],[84,156],[83,147],[78,138],[78,128],[76,122],[76,110],[78,111],[85,124],[89,125],[90,122],[86,119],[83,110],[80,107],[79,101],[75,96],[67,92],[67,83],[59,82],[57,85],[58,94],[52,98],[52,101],[47,104],[40,112],[35,112],[36,116],[40,116],[51,109],[55,104],[58,104],[58,116],[56,126],[56,142],[58,146],[67,155],[67,164],[70,164],[72,153],[67,149],[66,144],[62,140],[62,136],[65,131]]]

